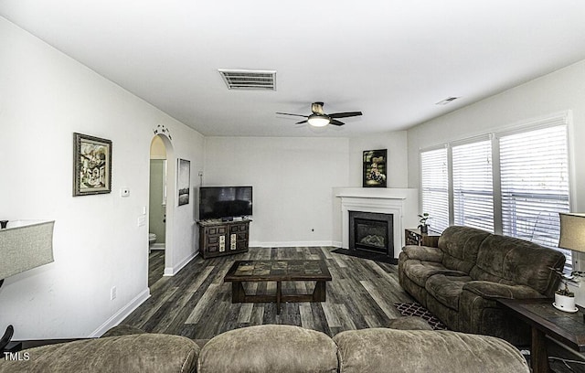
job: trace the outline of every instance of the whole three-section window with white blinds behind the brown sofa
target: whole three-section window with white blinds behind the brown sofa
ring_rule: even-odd
[[[563,252],[569,270],[570,250],[558,248],[558,213],[570,211],[568,127],[564,112],[421,151],[422,211],[431,214],[431,229],[456,224],[530,240]]]

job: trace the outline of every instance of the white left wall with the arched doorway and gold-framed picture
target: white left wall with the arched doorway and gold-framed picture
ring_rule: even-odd
[[[16,339],[99,334],[148,296],[148,227],[137,219],[153,130],[164,124],[175,157],[194,167],[203,137],[1,17],[0,35],[0,215],[56,220],[55,261],[5,280],[0,328],[15,325]],[[74,132],[112,140],[111,194],[71,197]],[[193,204],[174,213],[176,264],[196,250]]]

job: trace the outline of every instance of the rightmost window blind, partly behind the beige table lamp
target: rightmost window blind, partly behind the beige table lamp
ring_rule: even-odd
[[[503,233],[558,248],[559,212],[569,212],[566,125],[499,136]]]

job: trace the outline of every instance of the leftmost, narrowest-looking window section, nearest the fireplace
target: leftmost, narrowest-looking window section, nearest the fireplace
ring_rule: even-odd
[[[420,153],[422,212],[431,216],[434,231],[449,227],[449,174],[447,148]]]

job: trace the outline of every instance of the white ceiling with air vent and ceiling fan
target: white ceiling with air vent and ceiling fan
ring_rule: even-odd
[[[583,0],[0,0],[0,15],[205,135],[402,130],[585,59]],[[229,91],[218,69],[274,69],[276,91]],[[315,131],[275,114],[313,101],[364,115]]]

